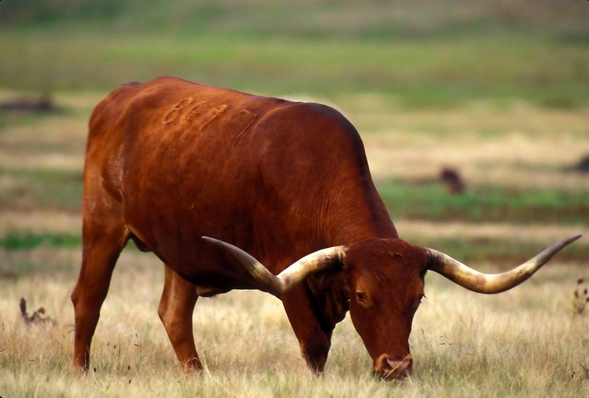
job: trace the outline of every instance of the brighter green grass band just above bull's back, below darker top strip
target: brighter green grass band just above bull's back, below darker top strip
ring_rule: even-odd
[[[522,98],[575,107],[589,100],[585,47],[525,38],[363,42],[8,31],[0,52],[0,87],[12,90],[111,90],[177,75],[274,96],[380,93],[408,106]]]

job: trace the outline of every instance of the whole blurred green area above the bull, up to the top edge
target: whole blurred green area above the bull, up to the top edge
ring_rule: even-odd
[[[587,21],[582,0],[5,0],[0,87],[111,90],[170,74],[276,95],[577,106]]]

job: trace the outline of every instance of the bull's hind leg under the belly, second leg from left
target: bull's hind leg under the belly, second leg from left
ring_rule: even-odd
[[[165,268],[166,279],[158,314],[184,371],[192,373],[202,369],[192,331],[192,314],[198,298],[196,286],[167,265]]]

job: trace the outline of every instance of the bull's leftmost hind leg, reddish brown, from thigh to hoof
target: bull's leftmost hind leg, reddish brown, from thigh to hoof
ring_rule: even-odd
[[[87,203],[85,203],[86,205]],[[100,203],[102,207],[104,203]],[[107,296],[112,270],[128,240],[128,230],[118,210],[120,206],[85,209],[82,225],[82,267],[72,292],[74,304],[74,366],[88,371],[90,345]]]

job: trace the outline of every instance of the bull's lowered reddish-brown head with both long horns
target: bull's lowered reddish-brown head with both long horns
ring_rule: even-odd
[[[571,236],[511,271],[494,275],[481,274],[448,255],[401,239],[372,239],[322,249],[274,275],[241,249],[216,239],[203,238],[231,252],[260,282],[262,290],[276,297],[315,272],[330,268],[345,272],[350,317],[372,357],[373,371],[382,377],[396,379],[412,371],[409,334],[413,315],[424,295],[423,278],[428,269],[468,290],[499,293],[524,282],[560,249],[580,236]]]

